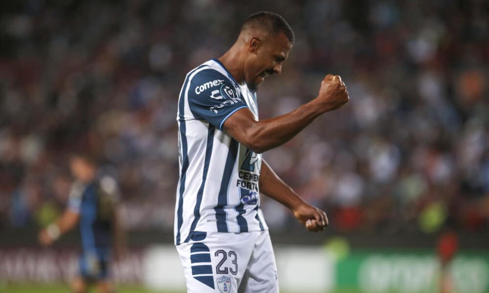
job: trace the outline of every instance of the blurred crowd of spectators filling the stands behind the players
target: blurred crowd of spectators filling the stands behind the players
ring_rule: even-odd
[[[276,2],[276,3],[272,3]],[[75,147],[121,188],[129,229],[172,231],[177,100],[244,18],[296,43],[258,90],[260,118],[341,75],[350,103],[264,158],[338,230],[482,231],[489,219],[489,4],[484,0],[134,0],[5,3],[0,12],[0,229],[64,208]],[[263,200],[274,230],[301,229]]]

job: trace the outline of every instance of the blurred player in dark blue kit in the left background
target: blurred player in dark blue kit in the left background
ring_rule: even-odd
[[[98,177],[95,161],[81,153],[70,159],[73,183],[67,209],[54,223],[39,233],[44,246],[51,245],[61,234],[80,226],[82,254],[79,275],[71,283],[74,293],[85,293],[96,283],[101,293],[113,292],[109,280],[111,245],[118,257],[123,253],[123,233],[118,216],[119,191],[114,179]]]

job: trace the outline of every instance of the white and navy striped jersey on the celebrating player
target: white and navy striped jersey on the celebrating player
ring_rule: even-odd
[[[187,74],[178,98],[176,245],[189,241],[194,231],[268,229],[258,187],[262,155],[222,130],[241,108],[258,120],[256,93],[238,84],[219,60]]]

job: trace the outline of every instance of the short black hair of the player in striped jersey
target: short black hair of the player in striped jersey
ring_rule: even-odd
[[[294,32],[289,23],[277,13],[268,11],[253,13],[244,20],[241,31],[252,26],[262,27],[275,35],[282,32],[291,43],[295,42]]]

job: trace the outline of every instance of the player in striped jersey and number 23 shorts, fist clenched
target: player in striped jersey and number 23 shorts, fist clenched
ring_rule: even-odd
[[[188,292],[278,292],[260,192],[310,231],[328,225],[326,213],[304,202],[261,155],[349,100],[341,78],[327,75],[311,102],[258,119],[257,86],[282,71],[293,43],[281,16],[259,12],[244,21],[224,55],[185,78],[178,99],[175,244]]]

